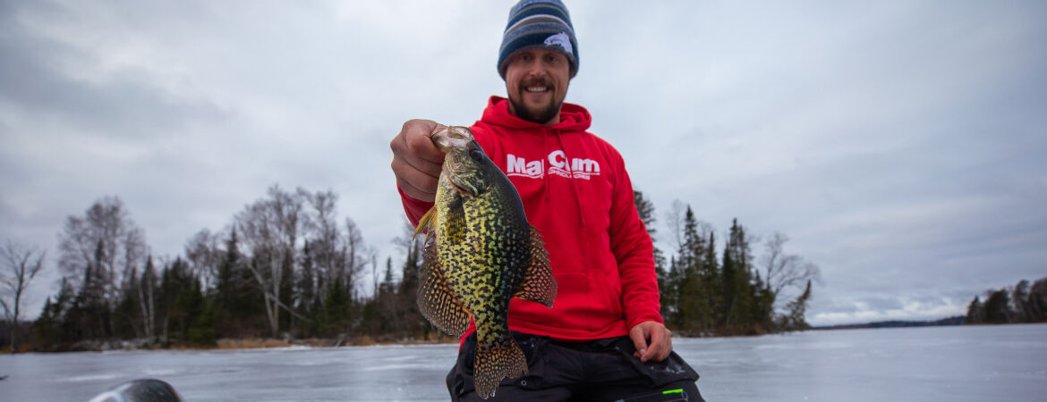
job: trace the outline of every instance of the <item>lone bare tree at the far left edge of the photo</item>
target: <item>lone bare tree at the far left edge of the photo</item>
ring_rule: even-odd
[[[8,240],[0,249],[0,260],[4,265],[0,269],[0,285],[3,285],[0,289],[0,306],[3,307],[4,317],[10,323],[10,353],[18,353],[18,321],[22,313],[22,294],[29,282],[43,269],[44,252]]]

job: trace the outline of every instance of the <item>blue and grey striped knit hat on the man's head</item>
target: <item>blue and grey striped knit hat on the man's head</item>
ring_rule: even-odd
[[[502,79],[506,78],[506,68],[513,53],[539,47],[566,55],[571,77],[578,74],[578,41],[567,7],[560,0],[520,0],[509,11],[509,23],[498,50]]]

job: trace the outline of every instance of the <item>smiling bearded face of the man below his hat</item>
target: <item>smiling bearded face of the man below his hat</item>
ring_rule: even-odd
[[[545,49],[516,53],[506,68],[509,112],[540,124],[560,122],[570,80],[571,63],[563,53]]]

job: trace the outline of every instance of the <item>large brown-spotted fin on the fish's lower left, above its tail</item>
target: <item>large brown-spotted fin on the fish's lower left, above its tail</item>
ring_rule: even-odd
[[[418,311],[440,331],[462,336],[469,328],[469,311],[451,290],[444,268],[437,258],[437,242],[425,247],[418,286]]]

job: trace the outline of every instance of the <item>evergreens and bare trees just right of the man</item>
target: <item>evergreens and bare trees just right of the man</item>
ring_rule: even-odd
[[[634,193],[637,210],[652,237],[654,207]],[[809,328],[805,320],[811,281],[821,280],[818,265],[786,254],[788,238],[768,236],[757,259],[758,241],[737,219],[717,254],[712,226],[700,221],[690,206],[675,202],[666,214],[676,251],[666,260],[655,247],[662,316],[669,328],[686,336],[755,335]]]

